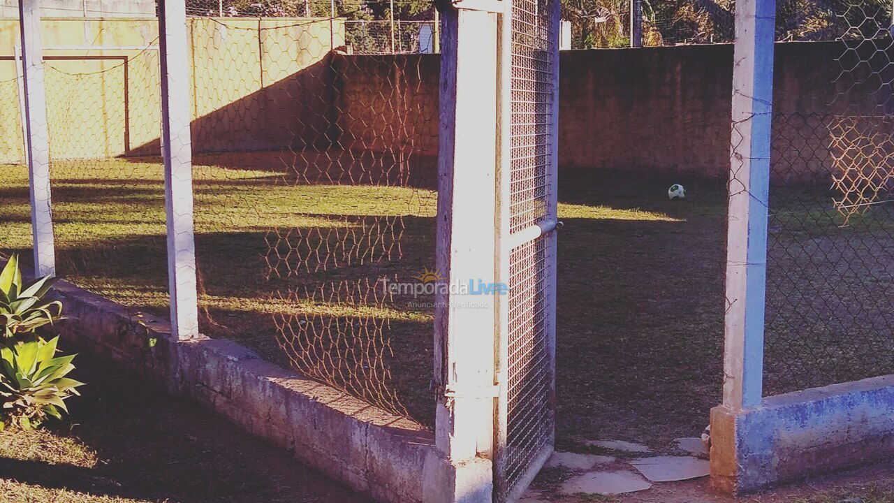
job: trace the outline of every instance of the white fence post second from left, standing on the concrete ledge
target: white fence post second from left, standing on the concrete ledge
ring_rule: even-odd
[[[184,0],[159,0],[158,33],[171,325],[173,335],[184,339],[198,335],[196,249],[192,217],[190,66]]]

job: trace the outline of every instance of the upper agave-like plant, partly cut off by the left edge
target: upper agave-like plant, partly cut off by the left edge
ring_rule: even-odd
[[[41,277],[26,285],[21,279],[19,258],[13,255],[0,272],[0,328],[4,339],[33,334],[35,330],[62,320],[62,303],[41,302],[55,283],[55,277]]]

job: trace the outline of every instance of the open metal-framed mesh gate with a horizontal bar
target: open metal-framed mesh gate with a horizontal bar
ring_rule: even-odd
[[[498,502],[518,499],[552,453],[555,391],[558,0],[503,0],[494,434]]]

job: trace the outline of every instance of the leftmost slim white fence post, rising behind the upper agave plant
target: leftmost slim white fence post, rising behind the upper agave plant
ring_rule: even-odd
[[[25,159],[34,236],[34,269],[38,276],[55,276],[53,205],[50,200],[50,146],[46,132],[43,45],[39,0],[19,1],[21,66],[25,93]]]

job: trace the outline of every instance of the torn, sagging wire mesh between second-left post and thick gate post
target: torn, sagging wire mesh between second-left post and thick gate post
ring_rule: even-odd
[[[200,324],[430,423],[432,311],[386,285],[434,259],[436,73],[331,21],[190,21]]]

